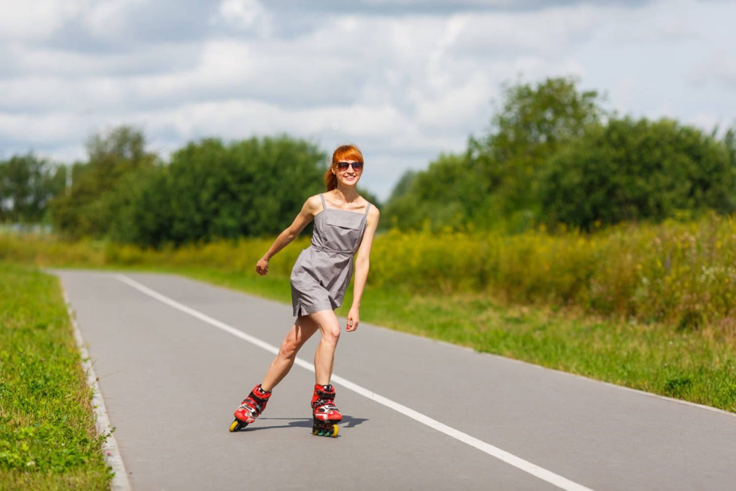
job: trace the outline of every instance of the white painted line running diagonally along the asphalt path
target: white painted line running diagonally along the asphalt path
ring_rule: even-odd
[[[127,277],[125,275],[116,274],[115,278],[117,280],[120,280],[123,283],[126,283],[129,286],[132,286],[132,288],[138,290],[139,292],[149,295],[149,297],[153,297],[156,300],[159,300],[160,302],[165,303],[166,305],[169,305],[173,308],[176,308],[179,311],[184,312],[185,314],[189,314],[192,317],[196,317],[197,319],[202,320],[202,322],[206,322],[209,325],[222,329],[222,331],[230,333],[233,336],[243,339],[244,341],[250,342],[252,345],[258,346],[261,349],[268,351],[269,353],[273,353],[273,354],[278,353],[278,348],[275,347],[274,345],[270,345],[269,343],[261,341],[261,339],[258,339],[255,336],[251,336],[250,334],[244,333],[243,331],[233,328],[233,326],[231,325],[225,324],[224,322],[221,322],[217,319],[213,319],[207,314],[203,314],[202,312],[197,311],[194,308],[188,307],[187,305],[184,305],[183,303],[179,303],[176,300],[166,297],[166,295],[160,294],[159,292],[156,292],[155,290],[150,289],[144,284],[138,283],[138,281],[135,281],[130,277]],[[302,358],[297,357],[294,363],[304,368],[305,370],[314,372],[314,364],[308,361],[305,361]],[[531,462],[528,462],[527,460],[524,460],[520,457],[515,456],[513,453],[509,453],[498,447],[495,447],[494,445],[486,443],[480,439],[471,437],[467,433],[463,433],[462,431],[456,430],[455,428],[451,428],[450,426],[447,426],[444,423],[440,423],[439,421],[434,420],[431,417],[426,416],[425,414],[422,414],[418,411],[414,411],[414,409],[403,406],[402,404],[397,403],[394,400],[391,400],[389,398],[384,398],[382,395],[378,395],[375,392],[372,392],[369,389],[364,388],[363,386],[354,384],[353,382],[347,380],[346,378],[342,378],[339,375],[333,374],[332,381],[335,384],[343,386],[345,389],[351,390],[359,395],[364,396],[365,398],[368,398],[370,400],[373,400],[376,403],[386,406],[389,409],[393,409],[394,411],[400,412],[401,414],[407,417],[410,417],[412,420],[418,421],[419,423],[422,423],[423,425],[427,425],[430,428],[434,428],[436,431],[444,433],[448,437],[453,437],[454,439],[457,439],[463,443],[466,443],[467,445],[470,445],[473,448],[477,448],[479,451],[485,452],[488,455],[495,457],[496,459],[506,462],[507,464],[513,465],[514,467],[517,467],[517,469],[523,470],[524,472],[531,474],[532,476],[535,476],[537,478],[540,478],[542,479],[542,481],[547,481],[548,483],[553,484],[554,486],[559,487],[563,490],[592,491],[588,487],[584,487],[581,484],[578,484],[574,481],[570,481],[570,479],[559,476],[559,474],[553,473],[551,470],[547,470],[544,467],[539,467],[537,464],[532,464]]]

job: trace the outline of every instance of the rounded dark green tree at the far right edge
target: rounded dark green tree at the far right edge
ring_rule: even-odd
[[[736,211],[736,178],[726,145],[695,127],[662,119],[611,119],[550,160],[543,215],[590,229],[680,211]]]

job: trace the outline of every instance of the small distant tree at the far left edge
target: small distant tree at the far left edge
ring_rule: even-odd
[[[49,199],[63,190],[66,167],[32,153],[0,162],[0,221],[38,223]]]

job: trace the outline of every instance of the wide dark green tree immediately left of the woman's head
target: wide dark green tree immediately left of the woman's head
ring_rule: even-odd
[[[158,247],[279,233],[307,197],[324,191],[325,160],[286,135],[191,142],[168,166],[123,181],[115,238]]]

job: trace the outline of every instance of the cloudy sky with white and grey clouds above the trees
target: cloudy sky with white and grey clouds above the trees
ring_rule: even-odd
[[[26,0],[0,15],[0,158],[84,160],[119,124],[188,141],[355,143],[380,199],[489,130],[504,83],[576,77],[604,107],[736,124],[736,1]]]

